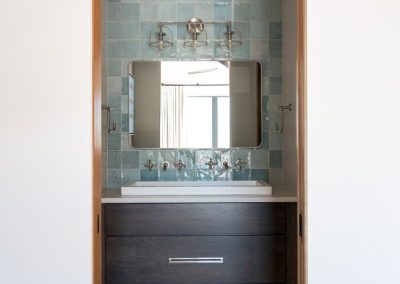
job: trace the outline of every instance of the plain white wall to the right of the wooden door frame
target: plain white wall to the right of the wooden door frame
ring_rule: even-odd
[[[400,1],[308,0],[309,283],[400,283]]]

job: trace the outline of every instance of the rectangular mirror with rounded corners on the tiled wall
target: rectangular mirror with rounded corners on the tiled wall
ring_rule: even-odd
[[[261,72],[255,61],[132,62],[131,146],[258,147]]]

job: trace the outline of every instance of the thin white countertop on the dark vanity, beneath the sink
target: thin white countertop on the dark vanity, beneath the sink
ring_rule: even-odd
[[[120,188],[104,189],[101,203],[218,203],[297,202],[293,194],[279,190],[271,195],[152,195],[121,196]]]

